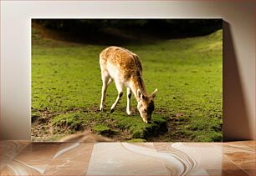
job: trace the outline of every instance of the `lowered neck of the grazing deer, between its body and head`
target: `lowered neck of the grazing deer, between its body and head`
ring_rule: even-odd
[[[144,84],[144,81],[143,81],[141,75],[136,75],[136,76],[131,77],[131,86],[130,86],[130,88],[131,88],[132,93],[136,97],[137,102],[139,101],[139,97],[137,95],[138,89],[141,90],[141,93],[143,95],[147,96],[145,84]]]

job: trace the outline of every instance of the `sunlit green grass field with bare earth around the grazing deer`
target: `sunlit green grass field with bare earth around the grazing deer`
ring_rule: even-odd
[[[203,37],[121,46],[141,58],[148,93],[158,88],[152,123],[143,123],[131,97],[114,113],[115,84],[107,90],[100,113],[99,53],[108,47],[47,38],[32,31],[32,138],[58,140],[92,130],[121,141],[222,140],[223,31]]]

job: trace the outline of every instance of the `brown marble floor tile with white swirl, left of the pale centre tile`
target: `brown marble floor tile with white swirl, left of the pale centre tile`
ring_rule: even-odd
[[[85,175],[94,143],[29,143],[1,175]],[[13,151],[13,148],[9,148]],[[10,152],[7,152],[10,153]]]

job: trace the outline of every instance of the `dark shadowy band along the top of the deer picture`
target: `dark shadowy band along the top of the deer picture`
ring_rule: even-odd
[[[70,42],[95,44],[151,43],[213,33],[220,19],[33,19]]]

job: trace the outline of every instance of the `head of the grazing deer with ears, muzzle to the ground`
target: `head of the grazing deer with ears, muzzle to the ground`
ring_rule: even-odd
[[[154,98],[156,97],[156,90],[151,93],[150,96],[146,96],[141,93],[141,90],[137,90],[137,97],[139,98],[137,108],[141,114],[141,118],[145,123],[149,123],[151,121],[151,114],[154,111]]]

